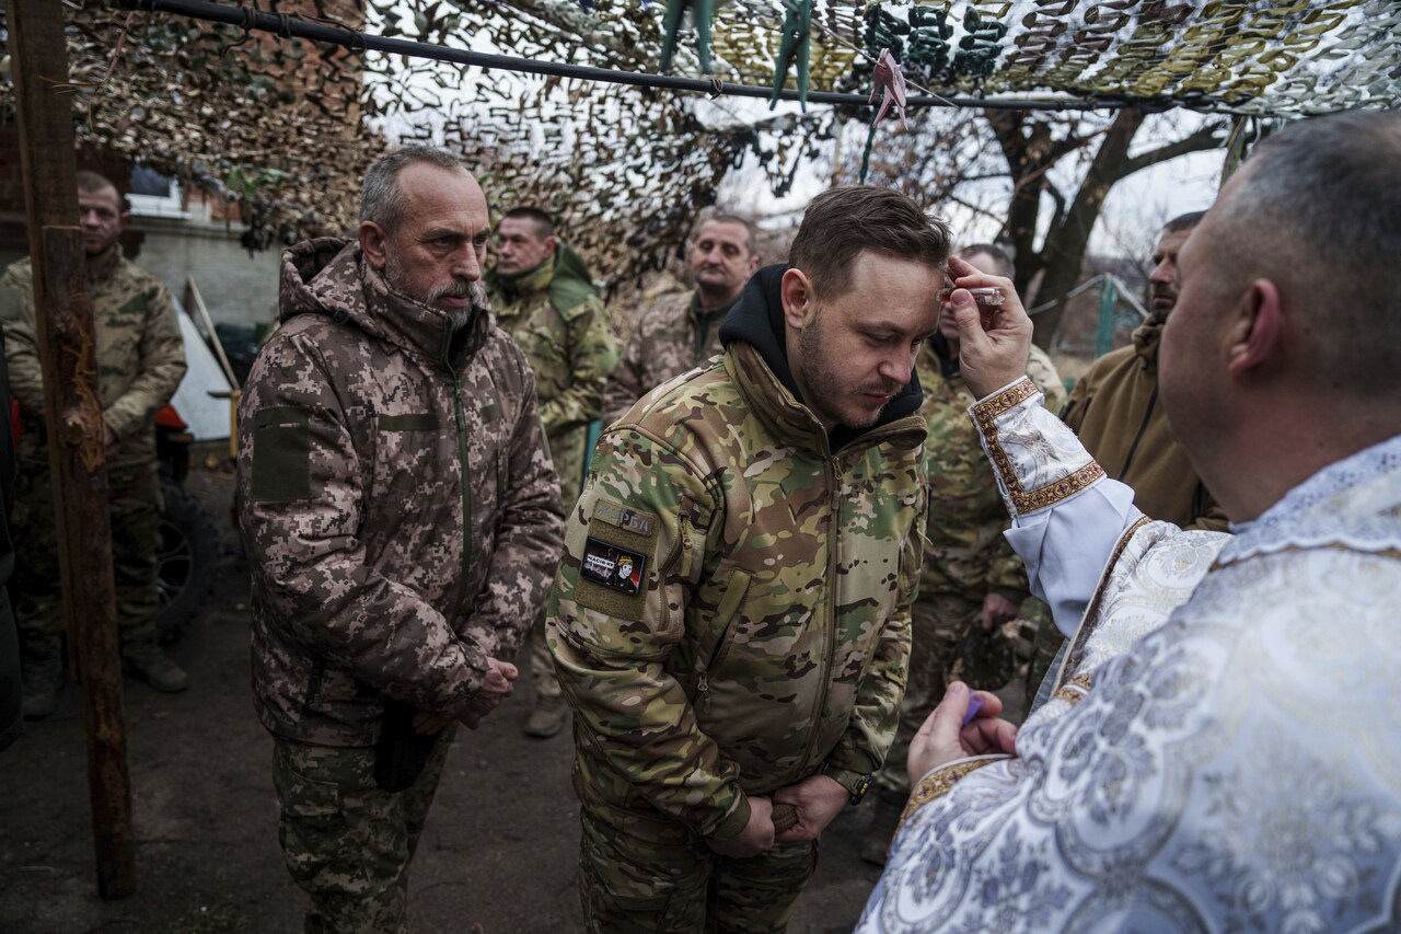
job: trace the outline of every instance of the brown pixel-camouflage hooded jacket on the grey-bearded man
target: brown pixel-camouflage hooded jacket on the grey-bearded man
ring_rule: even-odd
[[[516,656],[559,557],[558,481],[485,295],[454,331],[321,238],[283,254],[282,320],[238,405],[258,715],[367,746],[385,698],[454,710]]]

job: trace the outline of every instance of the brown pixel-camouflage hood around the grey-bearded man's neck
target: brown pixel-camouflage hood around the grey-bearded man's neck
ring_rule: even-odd
[[[447,311],[391,289],[364,262],[360,244],[340,237],[307,240],[282,254],[279,306],[282,321],[325,314],[439,362],[475,352],[493,327],[481,283],[474,283],[471,318],[458,332]]]

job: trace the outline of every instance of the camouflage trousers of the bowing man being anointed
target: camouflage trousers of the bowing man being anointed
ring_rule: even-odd
[[[722,857],[642,802],[580,797],[579,899],[591,934],[782,934],[817,871],[817,843]]]

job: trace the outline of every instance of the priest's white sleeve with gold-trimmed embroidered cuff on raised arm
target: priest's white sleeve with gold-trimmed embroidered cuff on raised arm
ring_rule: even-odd
[[[1110,480],[1030,379],[968,410],[1012,513],[1007,541],[1027,565],[1031,593],[1056,628],[1075,634],[1124,533],[1142,516],[1133,491]]]

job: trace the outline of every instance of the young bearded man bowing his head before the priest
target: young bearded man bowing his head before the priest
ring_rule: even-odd
[[[783,930],[880,769],[925,513],[913,363],[947,259],[904,195],[818,195],[724,355],[600,440],[548,625],[590,930]]]

